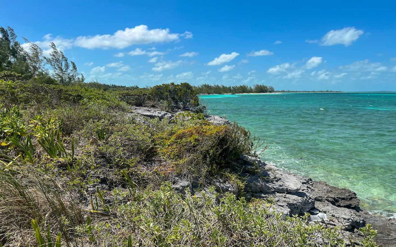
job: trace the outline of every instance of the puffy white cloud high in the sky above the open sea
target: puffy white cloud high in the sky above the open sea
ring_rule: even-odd
[[[321,39],[321,45],[338,45],[349,46],[356,41],[360,35],[364,34],[363,30],[357,30],[355,27],[346,27],[339,30],[331,30]]]

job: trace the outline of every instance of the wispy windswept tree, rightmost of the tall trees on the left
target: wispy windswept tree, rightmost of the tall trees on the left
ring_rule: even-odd
[[[70,83],[81,81],[82,78],[78,77],[77,66],[73,61],[67,59],[62,51],[56,48],[56,45],[51,42],[49,45],[52,48],[49,57],[44,57],[53,72],[52,76],[58,83],[62,85],[69,85]]]

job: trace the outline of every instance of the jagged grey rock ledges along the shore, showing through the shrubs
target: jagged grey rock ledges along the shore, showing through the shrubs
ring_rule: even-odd
[[[148,107],[131,107],[131,112],[148,118],[173,118],[174,114]],[[177,114],[177,113],[175,113]],[[214,124],[231,124],[227,119],[218,116],[206,117]],[[244,191],[239,191],[234,184],[213,178],[202,187],[194,183],[195,179],[175,178],[173,187],[181,193],[190,188],[191,193],[199,194],[208,191],[210,185],[216,187],[217,192],[230,192],[239,196],[241,193],[247,198],[270,199],[271,209],[284,215],[303,215],[310,213],[317,215],[324,213],[327,219],[312,221],[327,227],[339,226],[342,235],[348,242],[349,238],[359,238],[356,229],[371,224],[378,234],[375,238],[379,246],[396,247],[396,221],[385,217],[371,215],[360,209],[360,200],[356,193],[349,189],[341,189],[327,185],[324,181],[314,181],[309,177],[284,172],[274,164],[263,162],[257,157],[243,155],[238,166],[234,168],[245,177]]]

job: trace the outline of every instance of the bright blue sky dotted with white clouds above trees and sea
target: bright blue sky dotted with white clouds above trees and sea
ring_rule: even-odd
[[[1,26],[87,80],[396,91],[394,1],[13,1]],[[23,42],[22,42],[23,43]]]

